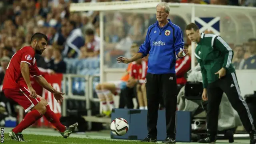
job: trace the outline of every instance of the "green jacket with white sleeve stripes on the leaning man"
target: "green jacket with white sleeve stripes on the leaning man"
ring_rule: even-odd
[[[235,72],[232,65],[234,52],[228,44],[215,34],[201,34],[200,42],[195,50],[195,56],[201,67],[203,86],[218,80],[218,72],[226,68],[226,74]]]

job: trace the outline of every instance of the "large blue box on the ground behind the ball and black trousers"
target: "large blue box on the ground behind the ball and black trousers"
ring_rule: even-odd
[[[191,117],[190,112],[177,111],[176,113],[176,141],[190,142],[191,141]],[[124,118],[128,121],[129,130],[123,136],[116,136],[111,132],[111,138],[142,140],[148,135],[147,128],[147,110],[137,109],[113,109],[111,120],[115,118]],[[165,110],[158,111],[157,122],[157,140],[166,138],[166,122]]]

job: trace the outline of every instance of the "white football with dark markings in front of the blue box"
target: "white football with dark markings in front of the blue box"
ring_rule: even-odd
[[[114,135],[122,136],[128,132],[129,125],[127,120],[123,118],[116,118],[111,122],[110,130]]]

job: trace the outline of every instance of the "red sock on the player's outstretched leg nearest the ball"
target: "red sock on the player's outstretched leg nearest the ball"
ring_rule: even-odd
[[[53,126],[55,126],[60,132],[64,132],[66,130],[66,127],[60,123],[59,118],[54,114],[54,112],[51,110],[50,106],[46,106],[46,113],[44,114],[45,118],[49,120],[49,122],[52,123]]]

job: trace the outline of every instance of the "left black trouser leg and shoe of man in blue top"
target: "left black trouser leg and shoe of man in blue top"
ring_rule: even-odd
[[[148,102],[148,136],[142,142],[156,142],[157,137],[157,118],[158,118],[158,105],[159,105],[159,75],[150,74],[146,75],[146,90]]]

